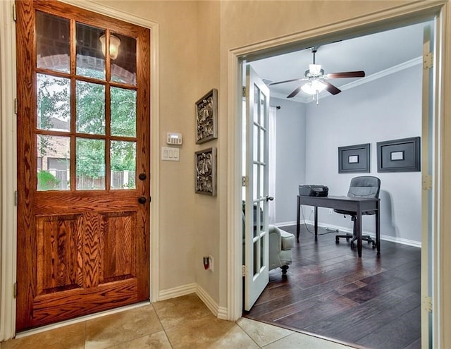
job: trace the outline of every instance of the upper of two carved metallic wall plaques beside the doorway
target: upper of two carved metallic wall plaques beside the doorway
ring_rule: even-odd
[[[218,138],[218,90],[212,89],[196,102],[196,144]]]

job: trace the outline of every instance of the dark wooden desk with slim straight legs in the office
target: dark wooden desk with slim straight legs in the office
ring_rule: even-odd
[[[297,219],[296,219],[296,239],[299,241],[300,232],[300,210],[301,205],[315,207],[315,239],[318,236],[318,207],[330,209],[343,209],[357,212],[357,252],[362,257],[362,212],[376,211],[376,248],[378,256],[381,255],[381,218],[379,216],[379,202],[376,197],[347,197],[347,196],[300,196],[297,195]]]

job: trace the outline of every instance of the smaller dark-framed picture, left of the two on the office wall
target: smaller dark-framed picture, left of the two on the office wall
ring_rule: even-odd
[[[338,147],[338,173],[369,173],[370,146]]]

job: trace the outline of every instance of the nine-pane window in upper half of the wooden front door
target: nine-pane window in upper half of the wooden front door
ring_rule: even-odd
[[[58,152],[58,147],[47,147],[47,154],[43,143],[37,142],[36,157],[39,164],[46,163],[46,158],[51,156],[68,159],[68,168],[63,178],[65,180],[61,180],[61,173],[57,176],[41,165],[37,190],[71,190],[74,187],[75,190],[136,188],[136,59],[132,59],[135,63],[130,65],[128,72],[123,68],[122,71],[118,69],[120,62],[112,64],[115,73],[111,81],[107,81],[105,78],[111,73],[105,62],[111,62],[111,59],[109,56],[105,59],[102,55],[97,38],[104,32],[108,35],[109,30],[75,23],[75,20],[40,11],[36,11],[36,18],[38,121],[35,132],[42,135],[42,139],[45,136],[69,133],[68,148],[72,150],[65,154],[54,154]],[[75,30],[78,38],[76,59],[70,59],[72,50],[68,49],[71,30]],[[58,33],[56,42],[53,37],[55,32]],[[124,35],[121,35],[121,39],[126,42],[126,47],[133,50],[131,53],[123,50],[124,54],[129,59],[130,55],[136,57],[136,39]],[[75,61],[75,68],[70,64],[72,60]],[[69,66],[72,68],[68,69]],[[114,107],[112,113],[111,106]],[[84,147],[80,147],[81,140],[85,140]],[[129,153],[112,149],[114,142],[118,144],[120,141],[132,144],[131,147],[123,148],[130,149]],[[99,144],[103,144],[103,147],[99,147]],[[78,156],[78,149],[84,150],[81,157]],[[116,153],[110,154],[111,151]],[[68,154],[73,154],[73,159],[68,158]],[[121,155],[124,159],[118,161],[117,158]],[[112,157],[115,157],[113,162],[116,166],[111,165]],[[47,183],[59,185],[42,185],[44,179]]]

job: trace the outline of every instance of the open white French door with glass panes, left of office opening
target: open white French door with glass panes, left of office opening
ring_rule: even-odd
[[[268,195],[268,114],[269,89],[247,65],[244,123],[245,310],[251,309],[269,281],[268,200],[272,197]]]

